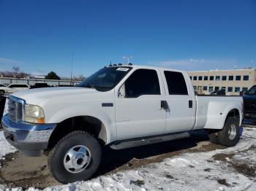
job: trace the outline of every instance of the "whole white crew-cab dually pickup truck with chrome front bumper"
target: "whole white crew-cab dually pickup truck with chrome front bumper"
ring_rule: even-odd
[[[124,149],[206,129],[211,141],[232,147],[242,109],[238,96],[195,95],[184,71],[110,66],[78,87],[13,93],[1,122],[6,139],[26,155],[50,151],[51,174],[67,183],[97,171],[103,146]]]

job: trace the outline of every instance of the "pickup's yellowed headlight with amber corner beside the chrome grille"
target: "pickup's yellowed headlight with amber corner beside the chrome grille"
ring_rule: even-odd
[[[42,111],[42,107],[26,104],[24,121],[34,123],[45,123],[45,114]]]

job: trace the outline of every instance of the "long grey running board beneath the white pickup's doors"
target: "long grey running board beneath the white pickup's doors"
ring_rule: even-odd
[[[125,139],[121,141],[114,141],[112,144],[110,144],[110,148],[111,149],[127,149],[130,147],[138,147],[146,144],[155,144],[155,143],[160,143],[164,141],[183,139],[187,137],[189,137],[188,132],[171,133],[171,134],[161,135],[161,136],[148,136],[148,137],[143,137],[138,139]]]

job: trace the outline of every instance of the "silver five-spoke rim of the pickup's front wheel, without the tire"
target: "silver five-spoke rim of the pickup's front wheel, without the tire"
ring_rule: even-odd
[[[64,156],[64,168],[72,174],[78,174],[89,165],[90,150],[83,145],[76,145],[69,149]]]

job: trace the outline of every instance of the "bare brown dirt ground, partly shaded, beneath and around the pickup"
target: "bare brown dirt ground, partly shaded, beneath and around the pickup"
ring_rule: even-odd
[[[132,149],[113,150],[106,148],[103,152],[102,164],[95,176],[113,174],[118,171],[140,168],[150,163],[162,162],[167,157],[181,155],[184,152],[205,152],[214,149],[224,149],[224,146],[212,144],[204,131],[192,134],[190,138],[167,141]],[[255,149],[255,148],[253,148]],[[226,156],[215,156],[214,160],[223,160]],[[232,156],[231,156],[232,157]],[[60,184],[50,176],[47,157],[26,157],[15,152],[0,160],[0,184],[9,187],[45,187]],[[236,164],[230,164],[236,167]],[[239,166],[237,166],[238,170]],[[252,171],[248,172],[252,174]],[[222,180],[219,180],[222,182]]]

